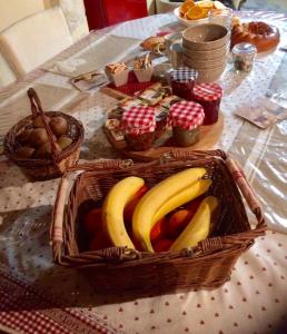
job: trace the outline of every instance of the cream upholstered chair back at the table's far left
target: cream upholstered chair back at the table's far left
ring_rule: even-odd
[[[18,78],[71,45],[59,7],[32,14],[0,32],[0,52]]]

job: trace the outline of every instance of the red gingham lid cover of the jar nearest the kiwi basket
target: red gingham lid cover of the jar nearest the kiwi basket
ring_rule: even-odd
[[[122,114],[121,128],[130,135],[144,135],[156,129],[156,112],[149,106],[133,106]]]

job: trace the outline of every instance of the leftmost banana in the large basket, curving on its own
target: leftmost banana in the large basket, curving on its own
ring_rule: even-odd
[[[132,196],[144,186],[145,180],[130,176],[118,181],[108,193],[102,206],[102,223],[115,246],[135,246],[126,230],[123,209]]]

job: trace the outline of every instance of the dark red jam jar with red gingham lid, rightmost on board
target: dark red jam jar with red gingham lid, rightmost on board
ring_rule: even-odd
[[[194,100],[204,107],[204,125],[211,125],[218,120],[222,89],[217,84],[197,84],[194,88]]]

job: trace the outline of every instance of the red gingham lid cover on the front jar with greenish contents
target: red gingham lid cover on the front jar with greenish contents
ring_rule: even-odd
[[[192,130],[204,122],[205,112],[202,106],[192,101],[180,101],[169,109],[169,125]]]

